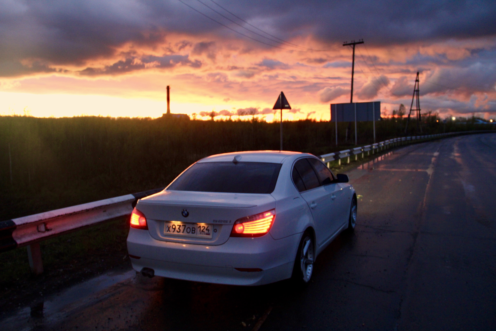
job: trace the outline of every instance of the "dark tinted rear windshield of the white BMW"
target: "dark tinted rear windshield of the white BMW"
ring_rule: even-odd
[[[167,190],[268,194],[274,191],[279,170],[280,163],[195,163]]]

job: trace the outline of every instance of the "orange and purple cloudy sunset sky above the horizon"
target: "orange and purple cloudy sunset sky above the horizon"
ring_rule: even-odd
[[[329,104],[496,118],[496,1],[0,0],[0,115],[329,120]],[[198,115],[199,116],[199,115]],[[207,119],[208,117],[204,117]],[[219,117],[221,118],[221,117]]]

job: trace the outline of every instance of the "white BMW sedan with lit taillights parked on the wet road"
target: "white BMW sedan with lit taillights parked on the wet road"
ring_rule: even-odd
[[[127,250],[147,276],[262,285],[310,280],[320,252],[353,231],[348,176],[311,154],[250,151],[212,155],[132,211]]]

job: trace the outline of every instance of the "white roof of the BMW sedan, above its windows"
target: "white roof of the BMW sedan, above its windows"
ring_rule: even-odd
[[[291,152],[291,151],[278,151],[278,150],[253,150],[246,152],[232,152],[223,153],[207,156],[201,160],[199,163],[203,162],[231,162],[235,156],[241,156],[238,158],[239,162],[269,162],[269,163],[282,163],[284,159],[289,156],[313,156],[307,153],[301,152]]]

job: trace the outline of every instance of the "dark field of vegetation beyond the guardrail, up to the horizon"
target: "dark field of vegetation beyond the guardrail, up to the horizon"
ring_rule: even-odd
[[[475,119],[443,123],[435,114],[423,120],[424,134],[495,127],[476,124]],[[404,135],[405,124],[405,118],[377,121],[376,141]],[[332,122],[304,120],[283,126],[285,150],[321,155],[354,147],[354,125],[338,123],[338,146]],[[410,121],[408,134],[416,129],[416,121]],[[373,142],[371,122],[359,122],[357,132],[359,145]],[[0,117],[0,219],[164,187],[202,157],[265,149],[279,149],[279,123],[256,117]]]

